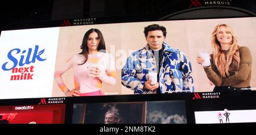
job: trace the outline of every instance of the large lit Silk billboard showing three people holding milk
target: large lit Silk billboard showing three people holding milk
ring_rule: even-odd
[[[255,90],[255,21],[172,20],[2,31],[0,99],[157,92],[142,89],[146,84],[161,93],[213,92],[220,85]],[[152,24],[166,30],[148,27],[144,33]],[[242,47],[236,50],[237,45]],[[213,54],[217,47],[222,48],[219,54],[234,56],[225,60]],[[203,66],[213,66],[212,71]]]

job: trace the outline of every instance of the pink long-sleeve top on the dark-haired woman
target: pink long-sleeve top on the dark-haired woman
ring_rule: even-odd
[[[68,69],[73,68],[75,88],[80,88],[80,93],[90,93],[101,90],[102,82],[115,85],[115,63],[113,56],[107,53],[89,54],[86,63],[84,55],[76,54],[67,60],[63,66],[55,71],[55,80],[59,88],[65,92],[69,90],[61,77]],[[101,74],[99,77],[88,77],[90,65],[96,64]]]

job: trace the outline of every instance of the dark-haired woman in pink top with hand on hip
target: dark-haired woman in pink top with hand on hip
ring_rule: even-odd
[[[115,64],[112,55],[105,53],[105,41],[98,29],[90,29],[84,34],[81,53],[73,55],[67,62],[56,69],[55,81],[67,95],[88,96],[104,95],[102,82],[115,85]],[[68,89],[61,77],[63,73],[73,68],[75,88]]]

